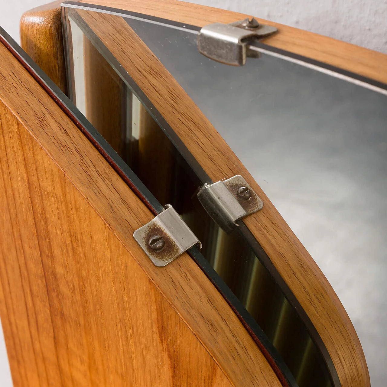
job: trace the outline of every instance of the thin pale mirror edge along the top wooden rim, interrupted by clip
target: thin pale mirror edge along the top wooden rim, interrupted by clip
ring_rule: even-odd
[[[132,11],[127,11],[127,10],[122,10],[122,9],[119,10],[120,12],[117,12],[118,11],[117,8],[104,7],[103,5],[95,5],[95,4],[89,4],[89,3],[82,3],[82,5],[80,5],[80,3],[72,2],[72,1],[65,1],[65,2],[61,3],[61,5],[63,7],[70,6],[71,8],[77,8],[77,9],[96,10],[98,12],[104,12],[104,13],[112,14],[112,15],[120,14],[120,15],[127,15],[128,17],[139,17],[141,19],[146,19],[146,20],[153,21],[156,23],[168,24],[170,26],[178,27],[179,29],[191,30],[192,32],[195,32],[195,33],[199,33],[200,29],[201,29],[201,27],[193,26],[191,24],[184,24],[181,22],[175,22],[175,21],[172,21],[169,19],[162,19],[162,18],[156,17],[156,16],[140,14],[138,12],[132,12]],[[249,43],[249,45],[255,46],[257,48],[263,48],[264,50],[283,55],[284,57],[289,57],[292,59],[300,60],[301,62],[305,62],[305,63],[311,64],[311,65],[314,65],[316,67],[324,68],[326,70],[335,72],[337,74],[344,75],[348,78],[352,78],[354,80],[364,82],[364,83],[369,84],[371,86],[375,86],[375,87],[379,87],[380,89],[387,90],[387,84],[385,84],[383,82],[373,80],[371,78],[353,73],[353,72],[348,71],[348,70],[344,70],[340,67],[329,65],[328,63],[325,63],[325,62],[320,62],[318,60],[315,60],[315,59],[312,59],[309,57],[304,57],[303,55],[298,55],[298,54],[292,53],[291,51],[286,51],[286,50],[282,50],[281,48],[276,48],[276,47],[273,47],[270,45],[266,45],[265,43],[261,43],[260,41],[252,41],[251,43]],[[269,55],[269,54],[267,54],[267,55]],[[286,58],[284,58],[283,60],[286,60]],[[302,66],[302,64],[300,64],[300,66]],[[349,81],[347,80],[347,82],[349,82]],[[364,87],[361,85],[358,85],[358,86]]]

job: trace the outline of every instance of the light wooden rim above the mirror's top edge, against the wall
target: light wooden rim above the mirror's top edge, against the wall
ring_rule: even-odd
[[[139,12],[199,27],[215,22],[228,24],[246,17],[255,17],[255,15],[176,0],[81,0],[80,2]],[[387,84],[387,55],[385,54],[259,17],[256,19],[262,24],[279,29],[279,33],[263,40],[267,45]]]

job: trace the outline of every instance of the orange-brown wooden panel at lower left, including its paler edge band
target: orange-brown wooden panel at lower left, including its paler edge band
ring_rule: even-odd
[[[281,384],[187,255],[155,267],[151,212],[0,45],[0,312],[14,385]]]

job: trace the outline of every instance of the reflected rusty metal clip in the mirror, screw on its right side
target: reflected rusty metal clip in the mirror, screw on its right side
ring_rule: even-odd
[[[206,183],[197,197],[209,216],[226,233],[238,226],[238,220],[259,211],[264,205],[240,175],[213,184]]]

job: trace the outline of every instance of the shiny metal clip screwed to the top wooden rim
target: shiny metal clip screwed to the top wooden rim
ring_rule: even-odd
[[[248,50],[248,42],[276,33],[276,27],[245,19],[231,24],[214,23],[200,29],[197,37],[199,52],[226,65],[243,66],[246,57],[257,57]]]

